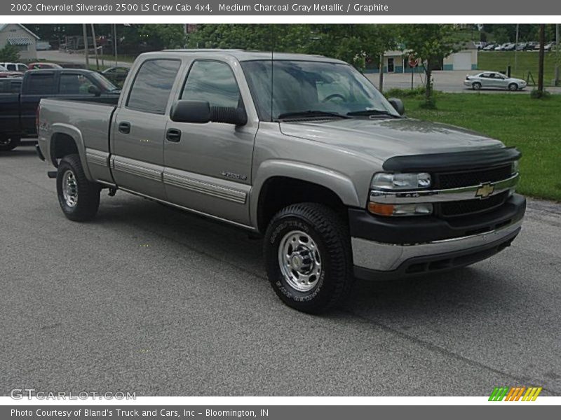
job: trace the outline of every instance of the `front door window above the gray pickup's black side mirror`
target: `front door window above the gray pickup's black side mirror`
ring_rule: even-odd
[[[183,88],[181,99],[208,101],[210,106],[241,104],[240,90],[230,66],[215,61],[196,61]]]

